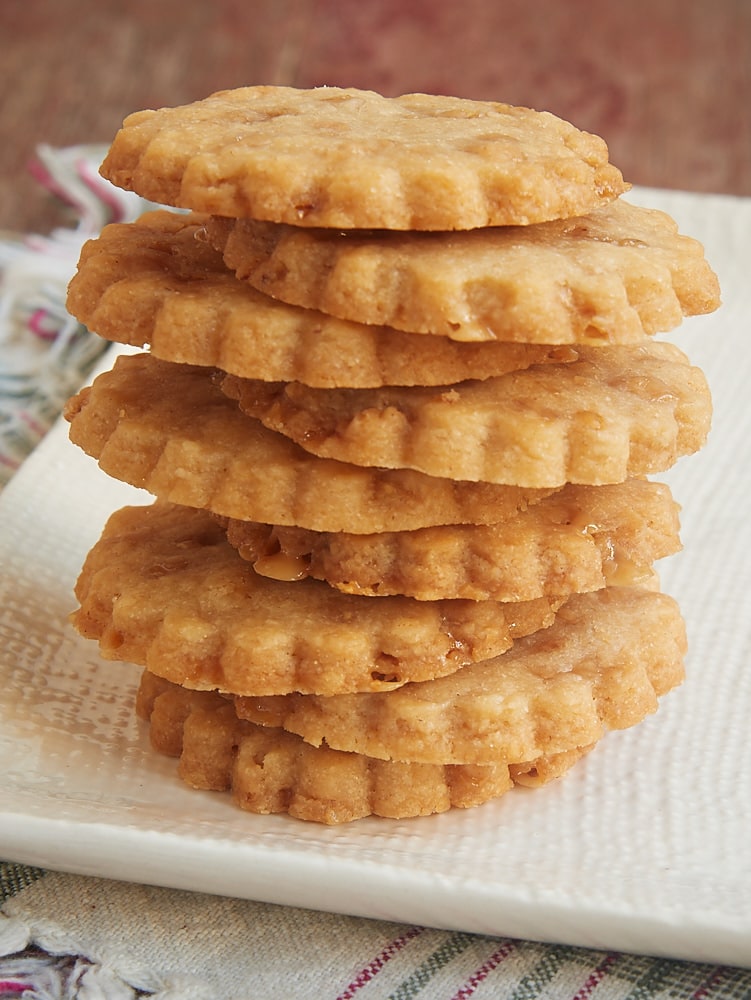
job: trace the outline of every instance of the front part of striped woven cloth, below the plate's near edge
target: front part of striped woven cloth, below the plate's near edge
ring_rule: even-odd
[[[9,862],[0,862],[0,893],[0,956],[15,943],[0,957],[0,1000],[751,998],[751,970],[144,890]]]

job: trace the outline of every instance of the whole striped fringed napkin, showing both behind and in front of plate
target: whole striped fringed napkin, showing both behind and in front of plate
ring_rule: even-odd
[[[74,208],[78,225],[44,238],[0,239],[2,482],[104,346],[66,314],[65,286],[83,241],[145,206],[98,177],[101,155],[96,147],[40,150],[40,176]],[[0,906],[0,1000],[751,998],[751,970],[400,925],[12,861],[0,862]]]

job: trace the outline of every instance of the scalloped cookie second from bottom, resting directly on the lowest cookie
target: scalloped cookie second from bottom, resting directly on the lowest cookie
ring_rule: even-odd
[[[675,601],[608,587],[571,597],[553,625],[501,656],[395,691],[236,698],[238,715],[307,743],[384,760],[486,764],[596,742],[657,708],[683,679]]]

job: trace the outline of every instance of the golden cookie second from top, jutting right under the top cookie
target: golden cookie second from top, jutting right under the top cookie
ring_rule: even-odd
[[[524,229],[357,233],[214,218],[207,233],[239,278],[274,298],[461,341],[638,343],[719,305],[701,244],[621,200]]]

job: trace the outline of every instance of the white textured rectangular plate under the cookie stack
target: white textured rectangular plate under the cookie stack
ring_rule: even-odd
[[[684,552],[662,569],[688,679],[563,781],[467,812],[325,828],[184,788],[133,716],[138,670],[66,623],[107,514],[146,500],[57,425],[0,497],[0,855],[494,935],[751,965],[751,201],[640,191],[705,242],[725,306],[676,333],[715,425],[669,478]]]

